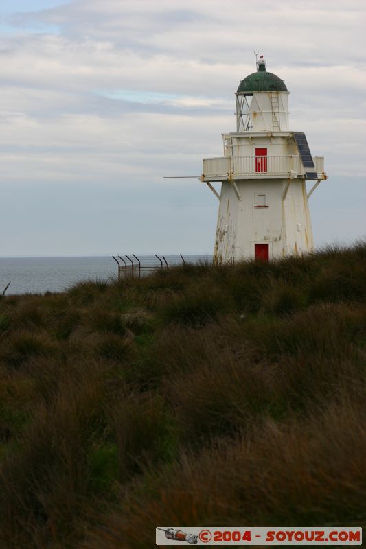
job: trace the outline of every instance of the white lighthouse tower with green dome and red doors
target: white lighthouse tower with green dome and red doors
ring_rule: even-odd
[[[261,56],[236,92],[236,132],[222,135],[224,156],[203,159],[201,180],[220,200],[215,261],[268,260],[313,248],[308,198],[327,176],[305,134],[289,129],[288,94]],[[221,182],[220,194],[213,182]]]

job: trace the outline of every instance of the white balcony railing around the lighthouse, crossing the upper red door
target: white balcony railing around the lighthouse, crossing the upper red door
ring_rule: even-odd
[[[317,174],[324,171],[323,156],[313,158]],[[223,156],[215,159],[203,159],[205,178],[228,177],[263,177],[286,176],[296,177],[304,174],[299,156]]]

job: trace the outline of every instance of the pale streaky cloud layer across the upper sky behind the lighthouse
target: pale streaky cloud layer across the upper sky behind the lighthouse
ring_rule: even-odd
[[[290,126],[330,176],[364,176],[365,12],[354,0],[73,0],[7,14],[3,180],[128,194],[199,174],[235,128],[233,93],[254,49],[286,80]]]

